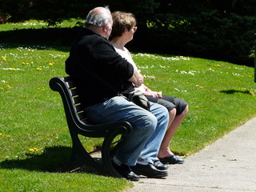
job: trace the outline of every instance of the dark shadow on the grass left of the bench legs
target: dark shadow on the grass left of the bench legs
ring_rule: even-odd
[[[11,159],[0,162],[0,168],[59,172],[69,161],[70,154],[71,148],[67,146],[46,147],[42,154],[25,154],[26,159]]]

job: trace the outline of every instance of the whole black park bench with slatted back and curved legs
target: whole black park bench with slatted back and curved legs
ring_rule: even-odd
[[[70,77],[51,78],[49,85],[51,90],[58,91],[62,97],[66,121],[72,139],[70,162],[64,170],[72,171],[79,169],[79,167],[87,166],[98,171],[99,174],[121,177],[114,170],[111,158],[118,142],[131,133],[132,126],[130,123],[113,122],[93,125],[85,118],[84,107],[79,101],[78,91],[74,81]],[[103,142],[100,149],[101,159],[94,158],[93,154],[97,151],[87,151],[85,149],[78,135],[83,135],[87,138],[104,138],[102,139]]]

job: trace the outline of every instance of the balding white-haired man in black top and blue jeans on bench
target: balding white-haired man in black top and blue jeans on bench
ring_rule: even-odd
[[[154,161],[166,132],[168,111],[156,103],[150,103],[150,111],[144,110],[119,96],[132,84],[141,86],[143,76],[108,41],[112,24],[107,6],[90,10],[86,27],[70,48],[66,73],[74,78],[91,122],[127,121],[133,126],[133,133],[114,154],[115,170],[132,181],[138,181],[138,174],[166,177],[166,170],[158,170]]]

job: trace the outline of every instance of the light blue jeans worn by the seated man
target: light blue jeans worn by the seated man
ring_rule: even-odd
[[[133,132],[118,147],[115,158],[127,166],[137,161],[154,162],[162,138],[166,133],[169,114],[166,107],[150,102],[150,111],[144,110],[123,97],[114,97],[85,108],[87,118],[100,124],[126,121],[133,126]]]

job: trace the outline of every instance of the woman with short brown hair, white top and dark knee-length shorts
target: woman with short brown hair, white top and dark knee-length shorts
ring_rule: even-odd
[[[126,58],[128,62],[132,63],[135,70],[138,70],[129,50],[127,50],[125,47],[126,43],[130,42],[134,38],[134,33],[137,30],[134,14],[115,11],[112,13],[112,18],[113,26],[111,32],[111,44],[114,46],[118,54],[120,54],[123,58]],[[162,163],[182,164],[184,160],[178,158],[170,151],[170,142],[174,137],[175,132],[178,130],[178,127],[182,124],[183,119],[186,117],[188,112],[188,103],[182,98],[164,96],[159,92],[150,90],[144,84],[136,89],[142,90],[142,93],[150,102],[156,102],[162,106],[166,106],[170,115],[170,121],[168,123],[166,134],[162,140],[162,144],[158,152],[158,158],[160,161],[154,162],[154,166],[156,166],[158,169],[164,170],[167,169],[167,167],[162,165]]]

